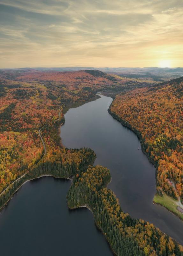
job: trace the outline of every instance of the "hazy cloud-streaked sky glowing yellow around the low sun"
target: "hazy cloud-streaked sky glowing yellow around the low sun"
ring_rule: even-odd
[[[182,0],[0,0],[0,68],[183,67]]]

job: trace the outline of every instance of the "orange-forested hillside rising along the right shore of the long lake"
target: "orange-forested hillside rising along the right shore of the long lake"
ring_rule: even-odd
[[[157,191],[183,200],[183,77],[150,88],[121,93],[113,116],[141,138],[143,150],[157,166]],[[175,188],[171,183],[175,182]]]

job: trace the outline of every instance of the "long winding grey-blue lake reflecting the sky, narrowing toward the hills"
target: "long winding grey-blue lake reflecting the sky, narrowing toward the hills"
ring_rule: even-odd
[[[153,223],[183,244],[183,221],[152,203],[155,168],[138,150],[141,147],[135,133],[107,112],[111,102],[102,95],[96,101],[71,108],[61,128],[63,144],[68,148],[92,148],[97,154],[95,164],[110,169],[112,181],[108,188],[119,198],[123,211]]]

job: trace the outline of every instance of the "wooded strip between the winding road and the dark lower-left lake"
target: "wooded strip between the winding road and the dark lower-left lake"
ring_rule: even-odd
[[[69,178],[76,174],[78,169],[83,170],[88,164],[92,164],[95,157],[94,151],[90,148],[63,148],[56,159],[48,160],[42,158],[25,176],[12,183],[0,196],[0,209],[27,180],[36,179],[44,175],[51,175],[56,178]]]

